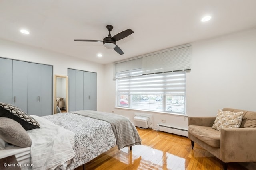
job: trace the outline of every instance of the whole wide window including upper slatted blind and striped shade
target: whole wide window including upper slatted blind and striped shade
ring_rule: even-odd
[[[191,45],[114,63],[116,106],[185,114]]]

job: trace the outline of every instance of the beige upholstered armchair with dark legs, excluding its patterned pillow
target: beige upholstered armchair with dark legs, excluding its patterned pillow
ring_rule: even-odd
[[[224,108],[223,111],[243,111],[240,128],[212,129],[216,117],[188,117],[188,138],[224,162],[256,162],[256,112]]]

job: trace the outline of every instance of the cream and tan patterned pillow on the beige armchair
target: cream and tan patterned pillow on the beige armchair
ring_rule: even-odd
[[[243,119],[243,112],[218,110],[212,129],[220,131],[222,128],[239,128]]]

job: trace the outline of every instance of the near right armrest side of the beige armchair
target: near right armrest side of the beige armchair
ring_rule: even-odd
[[[223,162],[256,161],[256,128],[224,128],[220,132],[220,159]]]

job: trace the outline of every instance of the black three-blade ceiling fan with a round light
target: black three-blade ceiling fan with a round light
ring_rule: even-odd
[[[114,49],[120,55],[124,54],[124,52],[120,49],[120,47],[118,47],[118,45],[116,45],[116,41],[119,41],[120,39],[123,39],[123,38],[131,35],[132,33],[134,33],[132,31],[132,29],[126,29],[125,31],[122,31],[122,32],[114,35],[113,37],[110,34],[110,31],[112,31],[113,26],[107,25],[107,29],[109,31],[109,34],[108,34],[108,37],[105,37],[103,39],[103,41],[102,40],[90,40],[90,39],[74,39],[74,41],[103,42],[103,45],[107,49]]]

